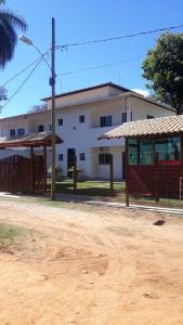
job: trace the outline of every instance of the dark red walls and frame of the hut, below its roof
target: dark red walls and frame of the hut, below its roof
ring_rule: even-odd
[[[167,138],[168,134],[165,135]],[[127,194],[139,196],[152,196],[157,200],[160,197],[180,198],[180,191],[183,194],[183,133],[177,134],[180,138],[180,159],[157,160],[154,146],[153,165],[130,165],[129,164],[129,139],[126,138],[127,155]],[[155,135],[149,139],[156,139]],[[164,138],[164,135],[161,135]],[[141,139],[141,136],[133,136]]]

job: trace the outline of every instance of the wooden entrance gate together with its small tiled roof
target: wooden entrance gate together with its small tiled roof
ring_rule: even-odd
[[[56,144],[62,143],[55,136]],[[51,132],[39,132],[22,136],[0,138],[0,150],[26,147],[30,157],[12,155],[0,159],[0,191],[13,193],[44,193],[47,191],[47,147],[52,145]],[[42,147],[42,155],[34,148]]]

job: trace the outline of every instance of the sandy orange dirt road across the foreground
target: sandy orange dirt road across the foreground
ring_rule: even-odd
[[[0,202],[0,221],[32,230],[0,252],[0,325],[183,324],[183,218]]]

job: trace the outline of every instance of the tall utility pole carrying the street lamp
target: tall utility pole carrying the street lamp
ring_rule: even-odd
[[[52,18],[52,77],[50,86],[52,87],[52,183],[51,199],[55,200],[55,20]]]

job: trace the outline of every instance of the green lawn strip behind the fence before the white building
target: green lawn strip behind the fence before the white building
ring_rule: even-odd
[[[125,182],[114,182],[115,193],[125,191]],[[51,182],[48,180],[48,190],[51,187]],[[56,182],[57,193],[74,193],[74,182],[71,179]],[[110,184],[106,181],[82,181],[77,182],[77,190],[75,194],[90,195],[90,196],[110,196]]]

